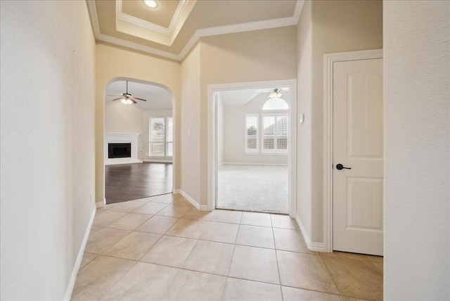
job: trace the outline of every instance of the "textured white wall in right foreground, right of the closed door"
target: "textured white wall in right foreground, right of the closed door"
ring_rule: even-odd
[[[385,300],[450,300],[450,2],[383,13]]]

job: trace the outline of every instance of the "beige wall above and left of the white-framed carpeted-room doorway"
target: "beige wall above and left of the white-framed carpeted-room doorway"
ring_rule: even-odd
[[[290,26],[200,39],[200,204],[207,205],[208,85],[296,78],[295,32]]]

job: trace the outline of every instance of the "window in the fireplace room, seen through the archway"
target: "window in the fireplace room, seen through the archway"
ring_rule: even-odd
[[[150,117],[148,122],[148,156],[172,157],[174,120],[172,117]]]

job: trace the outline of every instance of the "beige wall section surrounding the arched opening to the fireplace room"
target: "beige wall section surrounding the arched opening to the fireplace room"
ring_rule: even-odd
[[[179,115],[180,115],[180,64],[156,56],[117,48],[107,44],[96,46],[96,203],[105,198],[103,144],[105,133],[105,88],[111,80],[126,77],[146,83],[160,84],[174,96],[174,188],[179,188]]]

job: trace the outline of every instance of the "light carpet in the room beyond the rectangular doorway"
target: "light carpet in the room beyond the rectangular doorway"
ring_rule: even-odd
[[[217,178],[218,208],[288,213],[288,166],[224,164]]]

